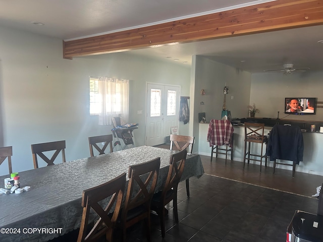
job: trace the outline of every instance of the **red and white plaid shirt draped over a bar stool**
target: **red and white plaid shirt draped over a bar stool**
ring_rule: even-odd
[[[213,145],[229,145],[233,147],[233,126],[229,120],[211,119],[208,125],[207,141],[210,146]]]

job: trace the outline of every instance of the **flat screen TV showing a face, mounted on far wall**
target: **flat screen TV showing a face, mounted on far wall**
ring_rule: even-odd
[[[316,113],[316,97],[285,97],[285,113],[313,115]]]

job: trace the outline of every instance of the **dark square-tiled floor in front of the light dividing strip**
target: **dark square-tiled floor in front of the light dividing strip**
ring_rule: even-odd
[[[286,228],[295,210],[317,211],[317,200],[240,183],[212,175],[190,179],[178,192],[180,222],[167,216],[167,232],[160,236],[159,220],[152,215],[152,241],[286,241]],[[146,241],[142,225],[127,232],[127,241]]]

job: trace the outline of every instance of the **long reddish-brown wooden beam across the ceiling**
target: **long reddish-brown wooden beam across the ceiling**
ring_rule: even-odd
[[[148,27],[63,41],[73,58],[323,24],[323,0],[277,0]]]

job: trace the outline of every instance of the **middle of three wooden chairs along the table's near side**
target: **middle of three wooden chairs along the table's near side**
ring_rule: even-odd
[[[159,166],[160,157],[129,166],[127,194],[120,219],[124,242],[127,228],[141,220],[145,220],[147,241],[150,241],[150,203],[157,183]]]

